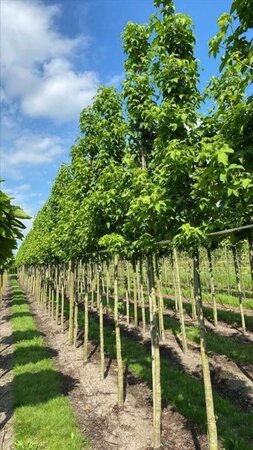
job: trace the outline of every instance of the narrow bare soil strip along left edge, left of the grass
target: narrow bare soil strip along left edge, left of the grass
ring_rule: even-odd
[[[11,450],[12,417],[12,353],[10,291],[0,308],[0,450]]]

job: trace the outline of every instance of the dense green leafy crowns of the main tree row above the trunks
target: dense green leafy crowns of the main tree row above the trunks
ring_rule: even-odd
[[[190,252],[213,230],[253,220],[252,42],[249,0],[234,0],[210,42],[221,73],[198,90],[191,18],[155,0],[146,24],[128,23],[123,92],[100,87],[80,136],[17,263],[67,261],[100,248],[151,253],[171,240]],[[124,250],[123,250],[124,248]]]

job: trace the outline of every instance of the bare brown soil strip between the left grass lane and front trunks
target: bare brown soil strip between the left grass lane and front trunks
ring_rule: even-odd
[[[93,450],[148,450],[152,443],[151,392],[144,383],[128,375],[127,394],[122,409],[116,406],[117,372],[114,361],[106,361],[106,378],[100,379],[99,360],[95,345],[90,345],[89,363],[84,366],[82,347],[68,345],[67,333],[48,318],[33,300],[29,299],[46,343],[56,350],[55,363],[64,374],[77,380],[69,393],[80,427],[91,441]],[[206,450],[205,435],[173,408],[163,410],[163,449]]]

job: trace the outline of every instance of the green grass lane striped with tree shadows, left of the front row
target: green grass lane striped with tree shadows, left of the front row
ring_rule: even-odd
[[[16,280],[12,286],[15,450],[88,448],[75,421],[53,351],[46,347]]]

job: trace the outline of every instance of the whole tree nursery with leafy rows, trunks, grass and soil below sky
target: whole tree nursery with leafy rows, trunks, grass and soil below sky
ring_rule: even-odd
[[[253,449],[252,0],[218,25],[204,93],[172,0],[126,25],[15,259],[1,191],[1,448]]]

